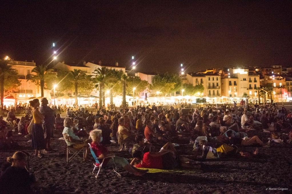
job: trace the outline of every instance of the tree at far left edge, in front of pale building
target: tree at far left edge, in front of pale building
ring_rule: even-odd
[[[4,90],[8,91],[20,86],[20,81],[17,79],[17,71],[11,65],[8,65],[8,60],[0,59],[0,105],[3,106]]]

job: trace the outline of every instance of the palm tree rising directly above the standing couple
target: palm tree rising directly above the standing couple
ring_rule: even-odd
[[[45,83],[57,78],[57,76],[52,72],[53,69],[47,69],[47,66],[40,65],[33,68],[32,73],[35,73],[35,75],[32,75],[31,78],[28,79],[35,83],[37,86],[41,87],[41,97],[44,97]]]

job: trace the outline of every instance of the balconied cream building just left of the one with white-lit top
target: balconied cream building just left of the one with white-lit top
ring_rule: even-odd
[[[196,74],[187,73],[187,83],[193,84],[193,86],[202,84],[204,86],[203,96],[208,97],[220,97],[221,96],[221,80],[219,74]]]

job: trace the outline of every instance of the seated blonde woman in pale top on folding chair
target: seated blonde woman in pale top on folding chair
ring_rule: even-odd
[[[68,146],[72,146],[74,149],[81,149],[86,147],[85,159],[88,158],[89,148],[86,142],[83,142],[79,139],[77,135],[74,134],[73,130],[73,121],[71,118],[65,118],[64,120],[64,130],[62,132],[64,139]]]

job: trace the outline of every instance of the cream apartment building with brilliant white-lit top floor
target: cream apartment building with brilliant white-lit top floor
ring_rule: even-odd
[[[241,98],[244,93],[249,95],[250,99],[257,99],[257,88],[260,87],[260,76],[249,73],[248,69],[228,69],[227,76],[221,77],[222,96]]]

